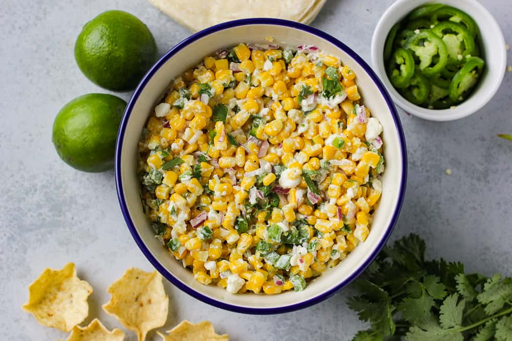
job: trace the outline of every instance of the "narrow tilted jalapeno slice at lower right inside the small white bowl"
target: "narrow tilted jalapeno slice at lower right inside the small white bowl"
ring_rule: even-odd
[[[462,101],[477,83],[484,66],[483,59],[479,57],[466,58],[462,68],[453,77],[450,84],[450,99],[454,102]]]

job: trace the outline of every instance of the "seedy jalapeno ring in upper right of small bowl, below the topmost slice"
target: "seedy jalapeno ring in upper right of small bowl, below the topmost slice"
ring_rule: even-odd
[[[432,32],[437,34],[446,45],[448,50],[447,64],[460,64],[466,56],[473,55],[475,39],[463,25],[452,21],[443,21],[434,26]]]

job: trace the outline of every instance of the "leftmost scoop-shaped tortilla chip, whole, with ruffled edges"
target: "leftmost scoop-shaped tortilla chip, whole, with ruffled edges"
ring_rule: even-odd
[[[29,286],[29,301],[23,310],[32,313],[39,324],[70,331],[89,314],[87,298],[92,286],[76,276],[74,263],[62,270],[42,271]]]

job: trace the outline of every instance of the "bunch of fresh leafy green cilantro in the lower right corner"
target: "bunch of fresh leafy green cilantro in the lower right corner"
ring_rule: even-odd
[[[512,340],[512,278],[468,275],[424,253],[423,239],[403,237],[354,283],[360,295],[348,305],[371,328],[353,341]]]

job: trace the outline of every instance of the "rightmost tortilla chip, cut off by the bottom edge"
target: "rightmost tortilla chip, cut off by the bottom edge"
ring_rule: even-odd
[[[209,321],[193,324],[183,321],[173,329],[167,331],[167,335],[158,333],[164,341],[229,341],[229,335],[218,335],[214,326]]]

